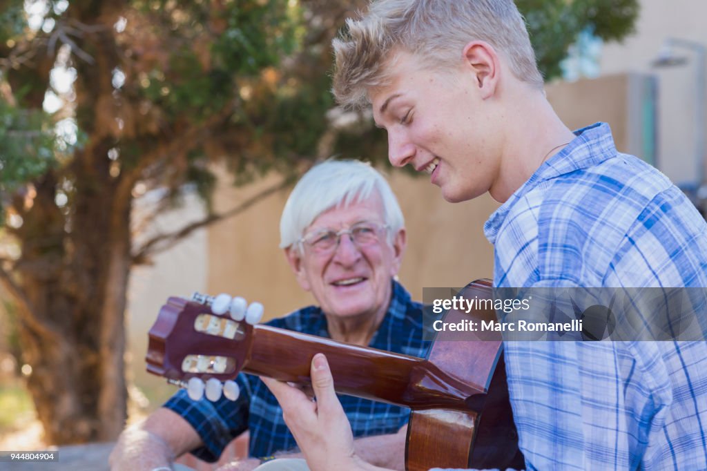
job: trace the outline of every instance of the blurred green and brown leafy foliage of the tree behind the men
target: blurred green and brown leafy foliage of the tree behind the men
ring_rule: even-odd
[[[70,1],[65,9],[55,3],[47,3],[46,16],[54,18],[57,26],[45,35],[28,29],[24,1],[9,2],[0,12],[0,39],[12,37],[16,43],[8,51],[32,35],[37,35],[35,42],[44,41],[46,50],[60,37],[57,30],[64,28],[61,37],[81,40],[86,54],[104,54],[98,49],[98,37],[86,34],[93,26],[75,18],[97,15],[110,2]],[[312,5],[319,9],[308,10]],[[615,40],[631,32],[638,14],[637,0],[518,0],[518,6],[546,79],[559,75],[559,63],[581,30],[590,28],[604,40]],[[167,165],[179,159],[185,164],[179,172],[165,173],[165,178],[153,183],[176,190],[182,183],[194,182],[207,197],[214,185],[208,167],[199,163],[204,158],[226,158],[238,182],[269,170],[288,173],[293,171],[293,161],[314,158],[327,132],[325,113],[334,107],[329,93],[331,56],[321,53],[328,49],[331,35],[324,34],[322,21],[316,18],[340,18],[351,8],[348,2],[299,6],[284,0],[133,0],[119,8],[124,10],[117,14],[126,21],[124,30],[110,33],[117,54],[115,69],[124,74],[124,83],[113,92],[120,108],[97,108],[98,96],[93,94],[103,79],[94,76],[92,64],[77,54],[67,64],[76,68],[77,83],[85,88],[77,91],[79,96],[90,96],[74,101],[79,146],[91,144],[92,135],[110,134],[122,170],[140,168],[153,145],[203,124],[235,103],[230,119],[215,129],[208,144],[189,146],[181,157],[165,156]],[[327,24],[331,31],[341,26]],[[16,83],[30,84],[33,91],[50,88],[42,74],[19,77]],[[120,110],[129,112],[123,117]],[[57,136],[48,132],[49,122],[42,112],[23,114],[8,105],[0,111],[6,116],[0,136],[15,136],[0,142],[4,190],[46,171],[56,160],[50,153],[64,149],[64,156],[70,158],[73,148],[66,141],[52,143],[52,136]],[[103,120],[101,114],[106,115]],[[114,120],[114,115],[128,120],[127,131],[95,128]],[[341,136],[335,151],[378,156],[383,148],[380,133],[366,133],[371,134],[366,139],[357,139],[356,132]]]

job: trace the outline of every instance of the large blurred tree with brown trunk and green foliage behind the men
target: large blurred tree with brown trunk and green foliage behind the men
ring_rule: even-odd
[[[135,246],[136,197],[165,189],[161,211],[190,183],[209,207],[216,160],[236,182],[283,175],[270,191],[332,153],[385,160],[385,136],[370,119],[343,128],[327,115],[334,108],[329,42],[364,4],[4,2],[0,224],[17,250],[0,252],[0,281],[16,303],[23,361],[33,367],[28,388],[47,441],[119,434],[130,269],[226,216],[209,211],[204,221]],[[621,37],[636,16],[635,0],[519,5],[531,29],[543,32],[532,37],[550,74],[579,30],[594,25],[597,35]],[[621,14],[609,24],[603,13],[617,5]],[[573,22],[546,30],[559,17]]]

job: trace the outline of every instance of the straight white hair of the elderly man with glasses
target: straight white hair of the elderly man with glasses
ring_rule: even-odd
[[[328,160],[310,168],[288,197],[280,218],[280,248],[297,243],[323,212],[368,199],[374,190],[382,200],[392,242],[405,221],[385,178],[368,163]]]

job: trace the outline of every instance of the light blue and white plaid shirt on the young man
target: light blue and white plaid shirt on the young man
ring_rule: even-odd
[[[494,286],[707,286],[707,224],[607,124],[575,132],[484,231]],[[706,470],[706,342],[506,342],[531,470]]]

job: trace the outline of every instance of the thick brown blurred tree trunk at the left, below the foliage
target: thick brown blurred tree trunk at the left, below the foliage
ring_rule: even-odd
[[[88,161],[107,165],[107,158]],[[69,215],[54,202],[57,182],[39,182],[21,228],[17,269],[32,310],[25,317],[36,322],[21,322],[20,335],[48,443],[115,439],[127,416],[123,313],[132,199],[100,170],[76,166]]]

